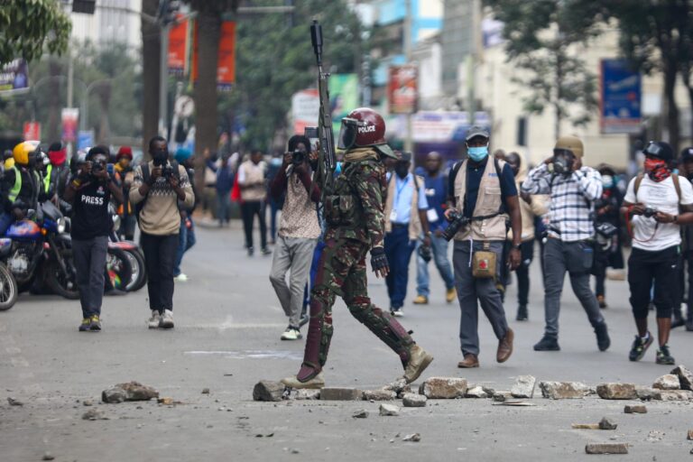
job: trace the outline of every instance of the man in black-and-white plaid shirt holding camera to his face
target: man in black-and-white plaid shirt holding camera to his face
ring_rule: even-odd
[[[594,292],[589,287],[589,274],[594,260],[595,225],[593,202],[602,196],[599,172],[582,165],[582,141],[563,136],[556,142],[553,156],[532,171],[522,183],[529,194],[550,194],[549,238],[544,249],[544,337],[535,351],[559,351],[560,293],[566,272],[570,285],[595,329],[600,351],[610,345],[608,329],[599,310]],[[553,164],[553,169],[549,169]]]

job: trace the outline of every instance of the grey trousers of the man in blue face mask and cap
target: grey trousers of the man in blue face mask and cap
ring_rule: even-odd
[[[489,250],[494,252],[497,261],[496,278],[500,280],[501,265],[503,260],[503,242],[490,243]],[[455,286],[457,287],[457,299],[459,309],[462,311],[459,320],[459,344],[462,354],[479,354],[479,309],[484,310],[486,318],[494,328],[495,337],[499,340],[505,337],[508,331],[508,321],[505,319],[501,292],[495,286],[493,278],[477,279],[472,276],[472,266],[470,264],[469,241],[455,241],[454,252],[452,254],[452,264],[455,267]],[[484,243],[474,242],[474,250],[483,250]],[[478,303],[477,303],[478,300]]]

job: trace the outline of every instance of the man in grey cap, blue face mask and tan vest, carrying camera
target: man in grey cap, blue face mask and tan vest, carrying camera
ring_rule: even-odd
[[[513,353],[513,330],[508,327],[501,300],[502,265],[516,269],[520,264],[522,218],[517,187],[510,165],[488,155],[489,133],[473,126],[467,132],[467,159],[450,171],[449,221],[443,232],[455,239],[457,299],[462,311],[460,347],[464,359],[458,367],[479,366],[478,304],[498,338],[495,359],[504,363]],[[513,245],[505,258],[504,243],[510,220]]]

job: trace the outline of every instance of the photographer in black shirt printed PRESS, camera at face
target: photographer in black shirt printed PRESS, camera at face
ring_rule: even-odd
[[[82,305],[80,332],[101,330],[104,267],[108,235],[113,228],[108,203],[111,196],[123,202],[123,191],[106,170],[108,155],[106,146],[91,148],[86,162],[65,189],[65,200],[72,204],[70,234]]]

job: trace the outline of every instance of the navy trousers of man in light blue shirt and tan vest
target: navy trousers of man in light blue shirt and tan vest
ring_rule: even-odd
[[[414,250],[414,241],[409,240],[409,226],[393,226],[385,234],[385,256],[390,264],[390,273],[385,278],[387,294],[390,296],[390,307],[402,308],[407,295],[409,280],[409,261]]]

